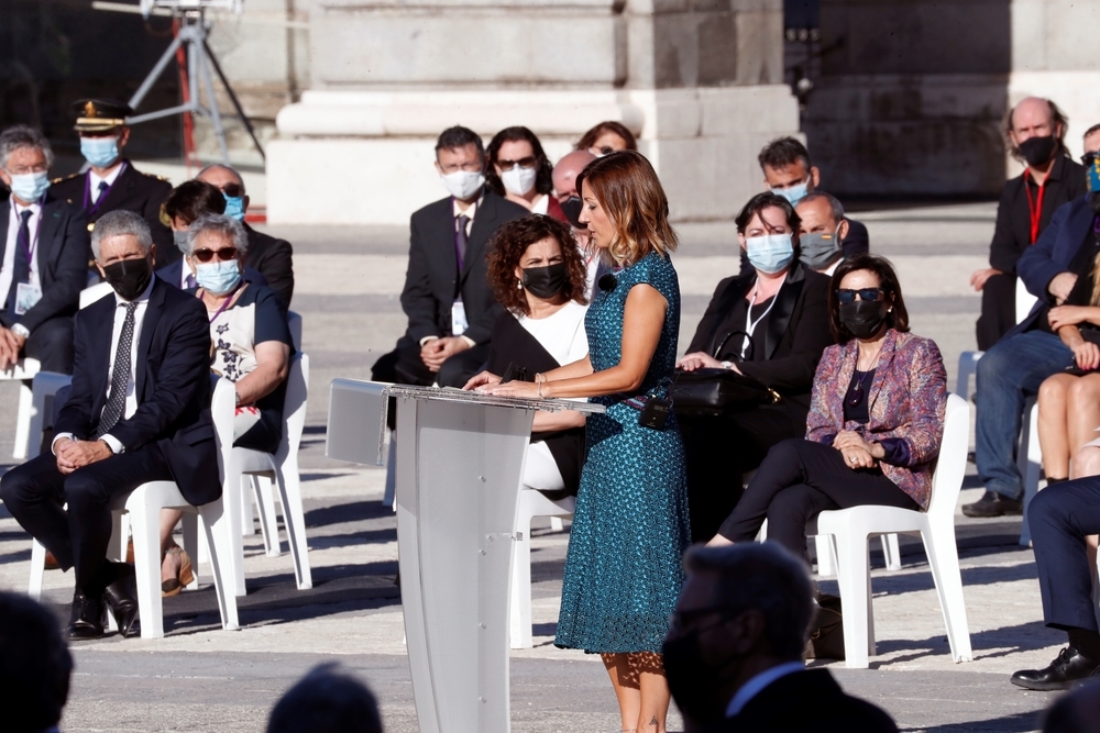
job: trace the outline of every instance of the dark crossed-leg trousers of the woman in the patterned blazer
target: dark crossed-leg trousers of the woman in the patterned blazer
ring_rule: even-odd
[[[804,557],[806,522],[829,509],[867,504],[919,509],[880,469],[854,470],[832,445],[783,441],[768,452],[719,533],[734,542],[751,542],[767,519],[768,540]]]

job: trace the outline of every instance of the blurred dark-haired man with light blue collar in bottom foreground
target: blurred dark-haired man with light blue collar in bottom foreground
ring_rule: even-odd
[[[805,564],[776,543],[696,545],[664,640],[688,731],[895,733],[890,715],[806,669],[814,615]]]

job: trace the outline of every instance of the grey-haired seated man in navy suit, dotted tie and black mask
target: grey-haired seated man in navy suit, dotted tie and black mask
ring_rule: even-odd
[[[176,481],[196,506],[221,493],[206,309],[153,277],[153,240],[138,214],[105,214],[91,249],[114,292],[77,313],[53,451],[0,478],[12,517],[62,568],[76,568],[70,638],[102,636],[105,604],[123,636],[135,630],[134,568],[106,559],[112,499],[158,480]]]

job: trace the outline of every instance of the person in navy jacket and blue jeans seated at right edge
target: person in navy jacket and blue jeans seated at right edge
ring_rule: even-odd
[[[1094,129],[1093,129],[1094,130]],[[1023,513],[1023,477],[1015,448],[1024,401],[1036,395],[1043,380],[1074,365],[1074,352],[1050,329],[1050,308],[1069,297],[1081,274],[1091,273],[1100,236],[1100,132],[1085,137],[1089,192],[1062,204],[1035,244],[1016,263],[1027,292],[1040,299],[1026,319],[1016,324],[978,362],[975,463],[986,493],[963,506],[967,517]],[[1047,480],[1065,476],[1047,476]]]

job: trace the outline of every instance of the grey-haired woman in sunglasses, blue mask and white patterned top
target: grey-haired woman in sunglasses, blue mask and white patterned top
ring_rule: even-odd
[[[242,277],[248,248],[240,222],[206,213],[187,230],[185,267],[195,276],[195,295],[210,318],[210,371],[237,387],[233,445],[274,453],[283,436],[294,346],[278,296]],[[161,515],[161,589],[166,596],[191,580],[190,558],[172,538],[179,518],[174,510]]]

